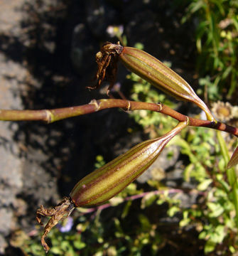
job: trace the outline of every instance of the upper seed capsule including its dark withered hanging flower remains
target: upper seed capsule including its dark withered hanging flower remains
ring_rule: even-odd
[[[97,85],[88,88],[97,88],[104,80],[107,80],[109,82],[108,94],[116,80],[118,58],[126,68],[150,82],[151,85],[158,87],[178,100],[195,103],[205,111],[208,120],[217,122],[205,102],[196,95],[193,88],[188,85],[188,82],[183,80],[171,68],[168,68],[161,61],[144,52],[144,50],[120,46],[119,42],[117,44],[109,42],[103,44],[96,55],[98,66],[96,74]]]

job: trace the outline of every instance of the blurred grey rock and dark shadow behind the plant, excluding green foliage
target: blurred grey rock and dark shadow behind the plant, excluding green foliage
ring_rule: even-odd
[[[107,33],[114,25],[123,26],[129,46],[143,43],[190,82],[193,24],[181,26],[182,15],[166,0],[0,0],[0,108],[51,109],[107,97],[85,87],[94,84],[100,44],[117,41]],[[119,67],[121,90],[129,95],[126,73]],[[0,122],[1,254],[16,255],[16,230],[32,233],[38,206],[67,196],[94,169],[97,154],[109,161],[146,139],[142,131],[127,132],[134,125],[118,110],[55,124]],[[175,185],[181,172],[169,177]]]

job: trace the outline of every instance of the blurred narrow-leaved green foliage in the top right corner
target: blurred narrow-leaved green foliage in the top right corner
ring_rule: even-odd
[[[184,3],[184,2],[183,2]],[[195,23],[200,85],[210,100],[231,97],[238,78],[238,1],[193,0],[182,21]]]

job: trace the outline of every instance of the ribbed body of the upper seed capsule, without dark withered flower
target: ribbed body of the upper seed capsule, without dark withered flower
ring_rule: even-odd
[[[114,46],[116,49],[119,47],[118,45]],[[144,52],[144,50],[124,47],[122,50],[120,49],[119,60],[131,72],[136,73],[168,95],[172,95],[178,100],[195,103],[205,111],[208,120],[215,121],[205,102],[195,94],[188,82],[152,55]]]

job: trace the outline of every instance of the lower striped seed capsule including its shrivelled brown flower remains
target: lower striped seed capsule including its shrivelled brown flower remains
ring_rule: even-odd
[[[46,252],[50,249],[45,237],[60,220],[67,218],[75,207],[92,207],[108,201],[126,188],[132,181],[148,169],[155,161],[164,146],[188,125],[188,119],[178,125],[163,137],[142,142],[125,154],[118,156],[108,164],[82,178],[72,189],[70,197],[64,198],[58,206],[46,209],[43,206],[37,210],[36,220],[41,223],[42,216],[51,217],[45,225],[41,243]]]

